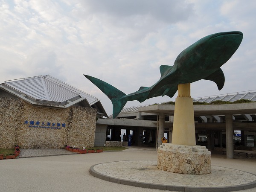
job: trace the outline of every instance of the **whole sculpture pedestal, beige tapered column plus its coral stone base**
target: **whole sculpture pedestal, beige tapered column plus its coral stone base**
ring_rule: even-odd
[[[172,143],[162,143],[158,147],[157,168],[195,175],[211,172],[211,152],[205,146],[195,145],[193,99],[189,83],[178,85]]]

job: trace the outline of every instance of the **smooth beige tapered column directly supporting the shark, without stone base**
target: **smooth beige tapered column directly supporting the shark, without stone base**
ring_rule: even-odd
[[[172,144],[195,146],[195,120],[193,99],[190,96],[190,83],[178,85],[175,100]]]

